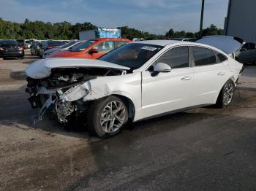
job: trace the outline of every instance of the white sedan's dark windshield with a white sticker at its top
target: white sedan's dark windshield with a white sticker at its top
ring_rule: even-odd
[[[121,66],[127,66],[131,69],[138,69],[143,66],[146,61],[152,58],[162,46],[153,44],[131,43],[118,47],[106,55],[103,55],[99,60],[116,63]]]

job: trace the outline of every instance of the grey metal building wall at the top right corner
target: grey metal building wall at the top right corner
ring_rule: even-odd
[[[225,35],[256,43],[256,0],[230,0],[224,31]]]

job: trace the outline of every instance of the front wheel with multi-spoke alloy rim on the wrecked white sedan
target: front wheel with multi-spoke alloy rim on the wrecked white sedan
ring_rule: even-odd
[[[110,95],[94,101],[89,106],[86,123],[89,133],[103,138],[120,132],[127,120],[128,110],[124,101]]]

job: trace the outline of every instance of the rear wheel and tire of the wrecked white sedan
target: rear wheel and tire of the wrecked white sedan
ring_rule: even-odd
[[[225,85],[222,87],[222,90],[219,93],[216,106],[218,108],[227,108],[232,104],[233,97],[235,93],[235,83],[229,79]]]

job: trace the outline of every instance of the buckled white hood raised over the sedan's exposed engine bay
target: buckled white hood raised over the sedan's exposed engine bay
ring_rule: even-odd
[[[115,63],[109,63],[94,59],[84,58],[49,58],[35,61],[29,65],[25,72],[28,77],[34,79],[42,79],[49,77],[51,69],[58,68],[106,68],[106,69],[124,69],[129,70],[128,67],[120,66]]]

